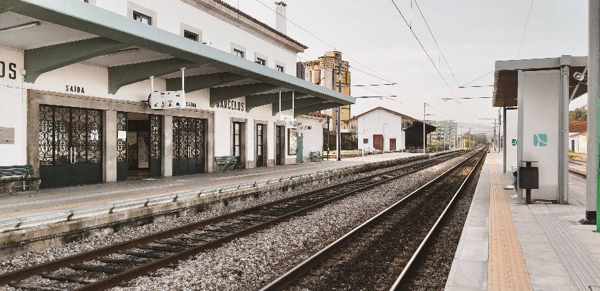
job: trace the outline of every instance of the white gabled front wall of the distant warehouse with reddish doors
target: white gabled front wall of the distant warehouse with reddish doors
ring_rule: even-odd
[[[373,110],[351,121],[358,128],[359,150],[374,148],[373,134],[383,134],[383,149],[390,150],[390,139],[396,139],[396,150],[405,150],[402,117],[385,110]],[[383,123],[388,123],[384,126]],[[363,143],[363,139],[369,139]]]

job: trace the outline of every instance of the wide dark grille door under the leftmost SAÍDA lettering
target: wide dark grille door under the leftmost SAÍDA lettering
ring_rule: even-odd
[[[41,187],[102,182],[102,112],[39,106]]]

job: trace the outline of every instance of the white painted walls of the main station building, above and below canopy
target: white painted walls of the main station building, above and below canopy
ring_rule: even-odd
[[[100,8],[111,10],[127,16],[128,1],[96,1]],[[297,57],[294,53],[283,50],[268,41],[232,26],[203,10],[194,8],[183,1],[159,0],[132,0],[139,6],[144,6],[157,12],[154,19],[158,28],[174,34],[181,34],[181,23],[199,28],[203,41],[210,41],[210,46],[230,52],[231,43],[236,43],[246,48],[246,59],[254,61],[254,52],[263,54],[268,58],[268,67],[275,68],[275,63],[283,63],[286,73],[295,75]],[[199,44],[201,46],[201,44]],[[0,61],[15,63],[17,66],[17,79],[9,80],[0,77],[0,108],[15,108],[0,114],[0,127],[14,127],[14,145],[0,145],[0,165],[26,163],[26,89],[37,89],[50,92],[67,94],[81,94],[89,97],[101,97],[125,101],[144,101],[150,92],[150,81],[142,81],[121,88],[117,94],[108,94],[108,68],[92,65],[90,63],[77,63],[52,72],[42,74],[35,83],[23,83],[21,70],[23,70],[23,51],[12,48],[0,48]],[[67,86],[84,88],[84,93],[69,92]],[[165,90],[166,80],[154,79],[154,90]],[[224,108],[211,108],[209,104],[209,90],[200,90],[186,94],[189,101],[197,103],[199,110],[214,112],[214,155],[229,155],[231,148],[231,117],[246,119],[246,157],[254,161],[254,120],[268,121],[268,159],[274,159],[274,122],[279,116],[272,116],[271,106],[254,108],[251,112]],[[245,102],[245,98],[237,101]],[[292,114],[291,110],[283,114]],[[314,120],[306,121],[308,124]],[[37,126],[37,125],[32,125]],[[289,126],[287,126],[289,128]],[[296,156],[287,155],[287,128],[286,128],[286,157],[295,159]],[[304,152],[321,150],[322,132],[320,126],[313,126],[312,131],[303,131]],[[313,132],[314,131],[314,132]],[[308,138],[310,137],[310,138]],[[308,142],[310,140],[310,142]],[[320,141],[320,142],[319,142]]]

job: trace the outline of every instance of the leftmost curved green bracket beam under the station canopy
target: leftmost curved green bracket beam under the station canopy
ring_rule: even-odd
[[[37,77],[45,72],[99,57],[115,50],[122,50],[128,46],[130,45],[112,39],[94,37],[93,39],[25,50],[25,81],[34,83]]]

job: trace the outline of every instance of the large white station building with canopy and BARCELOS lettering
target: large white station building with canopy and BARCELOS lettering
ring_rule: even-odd
[[[328,118],[306,114],[354,102],[297,75],[283,2],[277,28],[219,0],[0,8],[0,165],[43,187],[297,163]]]

